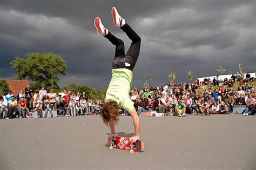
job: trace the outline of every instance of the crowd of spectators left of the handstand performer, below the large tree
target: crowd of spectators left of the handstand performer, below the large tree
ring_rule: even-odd
[[[53,112],[56,112],[57,117],[98,114],[103,104],[103,101],[88,101],[85,91],[75,94],[65,90],[58,93],[51,89],[48,93],[42,86],[40,91],[34,93],[27,85],[17,96],[12,91],[0,96],[0,118],[30,118],[32,112],[37,112],[39,118],[47,117],[49,113],[53,117]]]

